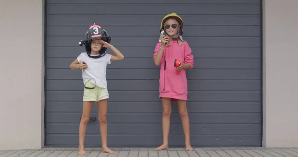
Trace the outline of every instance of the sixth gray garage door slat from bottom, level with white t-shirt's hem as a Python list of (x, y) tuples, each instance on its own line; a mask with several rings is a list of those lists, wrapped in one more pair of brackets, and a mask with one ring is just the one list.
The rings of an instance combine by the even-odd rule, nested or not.
[[(107, 80), (109, 91), (154, 91), (158, 80)], [(260, 91), (259, 80), (188, 80), (188, 91)], [(82, 80), (47, 80), (47, 91), (78, 91)]]

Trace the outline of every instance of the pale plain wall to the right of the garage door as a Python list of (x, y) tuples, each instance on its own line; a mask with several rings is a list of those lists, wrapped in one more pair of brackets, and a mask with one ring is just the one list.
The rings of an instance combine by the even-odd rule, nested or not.
[(298, 147), (298, 0), (264, 0), (265, 147)]

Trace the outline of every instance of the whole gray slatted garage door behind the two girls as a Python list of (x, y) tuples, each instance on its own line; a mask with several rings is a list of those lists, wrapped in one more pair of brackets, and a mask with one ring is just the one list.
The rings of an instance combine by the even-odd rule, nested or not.
[[(191, 143), (197, 147), (261, 145), (260, 0), (46, 0), (46, 145), (76, 146), (82, 110), (80, 70), (70, 63), (87, 27), (101, 24), (125, 59), (108, 66), (108, 144), (162, 143), (159, 69), (152, 55), (162, 17), (177, 12), (195, 56), (189, 79)], [(109, 51), (109, 53), (112, 53)], [(97, 107), (85, 144), (100, 142)], [(93, 118), (96, 120), (93, 121)], [(176, 104), (169, 144), (183, 146)]]

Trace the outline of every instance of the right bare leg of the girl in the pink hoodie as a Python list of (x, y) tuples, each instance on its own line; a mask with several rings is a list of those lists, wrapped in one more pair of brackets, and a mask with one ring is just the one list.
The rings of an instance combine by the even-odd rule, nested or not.
[(189, 117), (186, 107), (186, 101), (178, 100), (178, 110), (182, 121), (184, 136), (185, 136), (185, 147), (186, 151), (193, 151), (190, 144), (190, 127), (189, 127)]

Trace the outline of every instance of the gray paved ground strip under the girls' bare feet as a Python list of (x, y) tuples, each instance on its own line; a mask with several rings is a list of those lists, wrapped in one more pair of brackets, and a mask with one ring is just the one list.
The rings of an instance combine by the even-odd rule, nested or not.
[(43, 148), (37, 150), (5, 150), (0, 157), (298, 157), (298, 148), (112, 148), (115, 154), (102, 153), (100, 148), (86, 148), (78, 155), (76, 148)]

